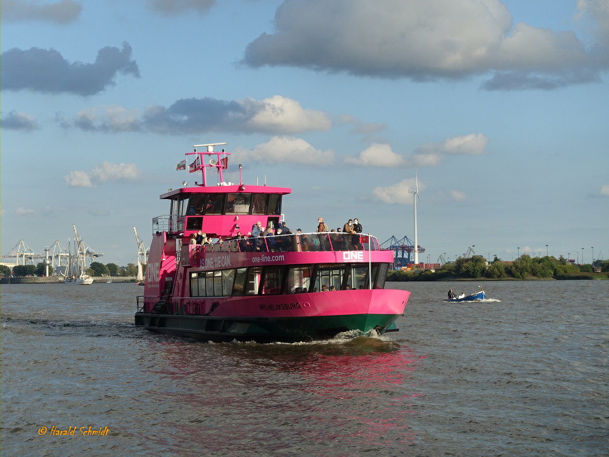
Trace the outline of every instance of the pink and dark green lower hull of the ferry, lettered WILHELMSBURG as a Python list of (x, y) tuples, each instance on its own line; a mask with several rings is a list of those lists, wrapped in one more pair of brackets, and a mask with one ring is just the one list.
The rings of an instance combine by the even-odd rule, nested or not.
[[(282, 310), (281, 306), (267, 302), (256, 306), (257, 315), (244, 316), (231, 312), (236, 308), (235, 303), (225, 302), (233, 305), (231, 309), (223, 313), (212, 312), (211, 315), (139, 312), (135, 314), (135, 324), (158, 333), (216, 342), (312, 341), (333, 338), (348, 331), (357, 331), (357, 335), (369, 331), (382, 334), (397, 330), (393, 323), (402, 315), (409, 292), (379, 289), (316, 292), (290, 297), (292, 302), (296, 297), (303, 306)], [(250, 300), (242, 300), (242, 311)], [(340, 302), (343, 306), (337, 306)], [(217, 310), (221, 308), (222, 305)]]

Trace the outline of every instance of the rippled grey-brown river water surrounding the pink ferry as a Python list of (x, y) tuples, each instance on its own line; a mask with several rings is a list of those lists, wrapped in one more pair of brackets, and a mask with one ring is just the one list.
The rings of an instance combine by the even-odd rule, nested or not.
[(136, 328), (133, 284), (2, 285), (2, 454), (607, 455), (609, 282), (443, 301), (476, 286), (388, 283), (399, 332), (263, 345)]

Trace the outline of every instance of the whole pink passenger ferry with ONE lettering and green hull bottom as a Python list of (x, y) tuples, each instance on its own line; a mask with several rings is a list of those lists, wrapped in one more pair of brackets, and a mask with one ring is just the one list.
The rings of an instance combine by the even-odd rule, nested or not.
[[(169, 200), (169, 215), (152, 219), (135, 324), (217, 342), (397, 331), (410, 292), (384, 289), (393, 251), (371, 235), (277, 234), (282, 199), (292, 190), (244, 184), (241, 165), (239, 184), (225, 183), (230, 153), (214, 151), (223, 144), (195, 145), (186, 153), (194, 158), (189, 171), (201, 171), (203, 181), (160, 196)], [(209, 170), (217, 172), (213, 183)], [(258, 221), (272, 228), (269, 235), (247, 237)], [(215, 242), (190, 244), (199, 231)]]

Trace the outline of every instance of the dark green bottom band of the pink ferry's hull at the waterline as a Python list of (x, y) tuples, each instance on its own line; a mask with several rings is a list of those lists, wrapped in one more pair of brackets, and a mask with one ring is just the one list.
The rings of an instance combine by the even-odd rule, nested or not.
[(370, 331), (379, 335), (397, 331), (393, 322), (401, 314), (347, 314), (315, 317), (211, 317), (136, 313), (135, 325), (150, 331), (203, 341), (299, 342), (354, 336)]

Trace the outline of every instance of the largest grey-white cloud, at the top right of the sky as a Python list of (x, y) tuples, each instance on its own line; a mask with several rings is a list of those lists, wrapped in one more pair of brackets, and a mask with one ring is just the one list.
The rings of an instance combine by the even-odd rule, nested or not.
[[(275, 30), (247, 46), (244, 62), (415, 81), (498, 72), (483, 88), (555, 88), (597, 80), (599, 63), (609, 64), (597, 57), (609, 37), (607, 1), (579, 0), (579, 7), (599, 24), (590, 49), (571, 31), (513, 26), (499, 0), (286, 0)], [(532, 82), (533, 74), (547, 83)]]

